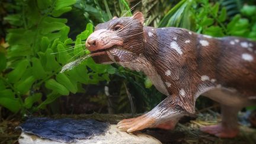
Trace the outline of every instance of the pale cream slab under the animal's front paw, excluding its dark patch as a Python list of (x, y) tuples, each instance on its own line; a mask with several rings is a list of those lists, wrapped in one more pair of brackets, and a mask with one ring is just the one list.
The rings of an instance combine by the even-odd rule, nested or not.
[[(20, 144), (27, 144), (27, 143), (42, 143), (42, 144), (60, 144), (63, 142), (56, 142), (49, 139), (42, 139), (36, 135), (30, 135), (27, 133), (22, 132), (20, 138), (18, 139)], [(120, 131), (117, 129), (116, 124), (111, 124), (107, 132), (104, 135), (92, 136), (89, 139), (79, 139), (76, 142), (72, 143), (161, 143), (155, 137), (150, 135), (146, 135), (140, 132), (136, 133), (127, 133)]]

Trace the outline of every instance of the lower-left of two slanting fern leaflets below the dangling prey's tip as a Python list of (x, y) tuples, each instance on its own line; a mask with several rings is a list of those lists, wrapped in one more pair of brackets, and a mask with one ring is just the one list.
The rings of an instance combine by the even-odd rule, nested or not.
[(52, 89), (61, 95), (69, 95), (68, 89), (66, 89), (62, 84), (59, 84), (59, 82), (56, 82), (55, 79), (49, 79), (46, 81), (45, 86), (46, 88)]

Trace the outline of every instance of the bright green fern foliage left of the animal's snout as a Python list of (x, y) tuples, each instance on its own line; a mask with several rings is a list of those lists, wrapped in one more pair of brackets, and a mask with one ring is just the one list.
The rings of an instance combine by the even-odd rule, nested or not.
[(18, 12), (5, 17), (13, 28), (8, 30), (8, 49), (1, 49), (0, 53), (0, 105), (14, 113), (19, 110), (24, 113), (26, 109), (35, 111), (61, 95), (84, 91), (82, 84), (110, 81), (108, 75), (115, 69), (95, 64), (92, 59), (71, 71), (59, 73), (63, 65), (88, 53), (82, 41), (93, 31), (93, 25), (87, 24), (76, 40), (68, 38), (67, 20), (59, 17), (71, 11), (75, 2), (15, 1), (14, 9)]

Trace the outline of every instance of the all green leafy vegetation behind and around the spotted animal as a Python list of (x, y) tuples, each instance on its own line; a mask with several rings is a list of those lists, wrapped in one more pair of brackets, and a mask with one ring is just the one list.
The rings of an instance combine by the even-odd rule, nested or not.
[[(1, 1), (2, 114), (60, 113), (65, 105), (60, 98), (72, 97), (87, 97), (89, 103), (100, 105), (95, 110), (104, 113), (143, 113), (155, 107), (165, 96), (143, 73), (96, 64), (92, 59), (59, 73), (63, 65), (89, 53), (85, 40), (95, 25), (113, 16), (132, 15), (129, 9), (134, 5), (132, 12), (142, 11), (145, 25), (256, 40), (254, 1)], [(198, 101), (200, 108), (207, 103)]]

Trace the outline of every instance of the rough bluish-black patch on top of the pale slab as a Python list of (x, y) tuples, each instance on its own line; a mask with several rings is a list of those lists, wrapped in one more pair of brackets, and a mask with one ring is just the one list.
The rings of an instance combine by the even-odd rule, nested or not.
[(76, 142), (92, 136), (104, 135), (109, 124), (97, 120), (50, 119), (47, 117), (31, 118), (17, 128), (25, 133), (57, 142)]

